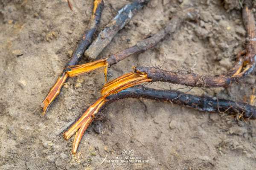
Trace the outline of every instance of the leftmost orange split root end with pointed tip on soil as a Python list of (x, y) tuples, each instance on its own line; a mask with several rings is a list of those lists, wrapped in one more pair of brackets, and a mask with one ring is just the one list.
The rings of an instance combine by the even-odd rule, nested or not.
[(49, 91), (47, 96), (45, 97), (44, 101), (42, 102), (43, 115), (46, 113), (46, 111), (49, 108), (49, 105), (52, 103), (52, 101), (60, 93), (61, 87), (62, 87), (62, 85), (64, 85), (64, 82), (66, 81), (67, 77), (68, 77), (67, 73), (64, 73), (63, 75), (61, 75), (61, 77), (58, 78), (55, 85), (53, 85), (53, 87), (51, 88), (51, 90)]

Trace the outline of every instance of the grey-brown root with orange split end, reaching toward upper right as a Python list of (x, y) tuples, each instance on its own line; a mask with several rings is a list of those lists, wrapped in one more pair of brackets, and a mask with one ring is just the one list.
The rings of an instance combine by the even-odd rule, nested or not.
[(120, 51), (116, 54), (112, 54), (110, 57), (105, 59), (100, 59), (95, 62), (89, 62), (82, 65), (70, 66), (67, 68), (67, 74), (69, 77), (78, 76), (89, 71), (93, 71), (101, 67), (111, 67), (111, 65), (116, 64), (117, 62), (131, 56), (132, 54), (141, 53), (148, 50), (149, 48), (157, 45), (158, 42), (163, 40), (167, 34), (173, 34), (184, 20), (197, 20), (198, 12), (194, 8), (187, 8), (186, 10), (178, 12), (171, 20), (166, 23), (165, 28), (162, 28), (156, 34), (153, 34), (151, 37), (148, 37), (140, 42), (137, 42), (136, 45), (127, 48), (123, 51)]

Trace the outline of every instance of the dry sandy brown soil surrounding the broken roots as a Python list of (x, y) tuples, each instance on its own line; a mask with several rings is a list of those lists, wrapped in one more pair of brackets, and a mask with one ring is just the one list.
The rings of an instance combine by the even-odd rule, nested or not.
[[(61, 132), (100, 96), (103, 73), (68, 80), (46, 116), (35, 109), (61, 73), (90, 20), (93, 0), (0, 0), (0, 170), (255, 170), (256, 121), (238, 122), (148, 99), (114, 102), (89, 127), (78, 153)], [(105, 0), (99, 30), (131, 0)], [(189, 0), (151, 0), (100, 54), (135, 45), (164, 26)], [(155, 48), (110, 68), (110, 79), (132, 65), (163, 65), (198, 74), (220, 74), (244, 48), (246, 32), (237, 0), (195, 0), (197, 22), (185, 23)], [(97, 33), (99, 33), (99, 30)], [(82, 59), (80, 63), (86, 62)], [(230, 88), (194, 88), (191, 94), (243, 101), (255, 73)], [(183, 86), (154, 83), (154, 88)], [(188, 88), (181, 91), (188, 91)], [(134, 150), (149, 163), (107, 160)]]

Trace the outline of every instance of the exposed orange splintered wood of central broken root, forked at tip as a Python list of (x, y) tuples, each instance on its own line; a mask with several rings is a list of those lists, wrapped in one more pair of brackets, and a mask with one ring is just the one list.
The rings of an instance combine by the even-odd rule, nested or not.
[(143, 82), (151, 82), (151, 81), (152, 80), (148, 79), (147, 74), (145, 73), (131, 72), (105, 84), (104, 87), (102, 88), (102, 97), (100, 97), (93, 105), (91, 105), (87, 109), (87, 111), (85, 111), (84, 114), (79, 118), (79, 120), (76, 123), (74, 123), (70, 127), (70, 129), (63, 134), (65, 139), (69, 139), (78, 130), (78, 133), (76, 133), (76, 137), (73, 142), (72, 153), (73, 154), (76, 153), (76, 150), (79, 146), (79, 143), (81, 141), (81, 138), (85, 130), (93, 121), (93, 118), (95, 117), (96, 113), (99, 112), (99, 109), (105, 104), (105, 102), (108, 101), (106, 97), (110, 96), (111, 94), (116, 94), (119, 91), (132, 87), (134, 85), (138, 85)]

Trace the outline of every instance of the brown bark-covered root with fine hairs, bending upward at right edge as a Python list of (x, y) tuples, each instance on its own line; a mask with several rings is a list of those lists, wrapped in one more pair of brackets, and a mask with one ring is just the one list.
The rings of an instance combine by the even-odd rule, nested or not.
[[(241, 57), (238, 55), (236, 65), (227, 74), (216, 76), (202, 76), (193, 73), (180, 73), (166, 71), (160, 68), (143, 67), (135, 68), (135, 71), (145, 72), (153, 82), (170, 82), (174, 84), (187, 85), (192, 87), (226, 87), (231, 82), (250, 74), (256, 66), (256, 26), (253, 12), (248, 6), (243, 8), (243, 22), (248, 34), (246, 54)], [(239, 71), (241, 69), (241, 71)]]

